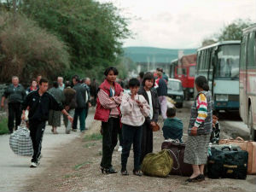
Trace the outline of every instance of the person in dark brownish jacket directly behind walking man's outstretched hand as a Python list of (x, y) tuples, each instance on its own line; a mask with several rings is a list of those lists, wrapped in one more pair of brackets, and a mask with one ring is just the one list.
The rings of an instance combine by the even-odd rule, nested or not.
[[(71, 88), (71, 83), (66, 82), (66, 88), (64, 89), (64, 96), (65, 101), (63, 102), (64, 108), (67, 110), (67, 112), (73, 117), (74, 116), (74, 110), (77, 107), (77, 101), (76, 101), (76, 90)], [(70, 121), (68, 121), (67, 117), (64, 115), (64, 124), (66, 126), (66, 133), (69, 134), (71, 130), (72, 124)]]

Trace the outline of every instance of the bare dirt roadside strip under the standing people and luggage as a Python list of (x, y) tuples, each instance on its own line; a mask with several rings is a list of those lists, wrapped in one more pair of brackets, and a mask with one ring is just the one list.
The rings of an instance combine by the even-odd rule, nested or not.
[[(188, 127), (189, 107), (178, 109), (177, 116), (183, 119), (184, 128)], [(208, 179), (202, 183), (186, 185), (186, 177), (168, 176), (137, 177), (133, 176), (133, 153), (131, 150), (127, 170), (130, 175), (120, 173), (104, 175), (100, 172), (102, 140), (99, 137), (100, 122), (93, 122), (90, 131), (84, 138), (76, 138), (60, 148), (51, 166), (37, 177), (28, 180), (26, 191), (253, 191), (256, 177), (248, 176), (247, 180)], [(186, 141), (186, 129), (184, 129)], [(91, 136), (93, 134), (93, 136)], [(154, 133), (154, 152), (160, 151), (163, 142), (162, 132)], [(113, 166), (120, 170), (120, 153), (114, 151)]]

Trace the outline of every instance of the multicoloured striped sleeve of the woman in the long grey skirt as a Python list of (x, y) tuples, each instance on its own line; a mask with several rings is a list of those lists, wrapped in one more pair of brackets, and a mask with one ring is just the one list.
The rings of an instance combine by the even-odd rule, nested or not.
[(194, 126), (199, 127), (207, 119), (207, 97), (202, 93), (197, 97), (196, 108), (198, 115)]

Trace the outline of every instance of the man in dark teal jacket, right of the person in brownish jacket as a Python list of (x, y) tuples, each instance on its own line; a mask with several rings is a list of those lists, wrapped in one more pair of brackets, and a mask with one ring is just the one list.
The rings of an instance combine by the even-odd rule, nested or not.
[(78, 118), (80, 121), (80, 131), (85, 130), (85, 116), (86, 116), (86, 88), (80, 84), (79, 76), (75, 75), (72, 78), (73, 89), (76, 90), (77, 108), (75, 108), (75, 114), (73, 117), (73, 131), (77, 131)]

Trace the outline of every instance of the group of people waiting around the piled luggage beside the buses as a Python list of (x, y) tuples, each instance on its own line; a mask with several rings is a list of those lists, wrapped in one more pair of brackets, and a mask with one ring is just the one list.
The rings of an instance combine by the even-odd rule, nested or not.
[[(165, 84), (160, 71), (145, 73), (140, 79), (130, 79), (130, 91), (123, 91), (116, 82), (118, 70), (106, 69), (106, 79), (99, 86), (96, 113), (94, 119), (102, 121), (102, 173), (116, 173), (112, 165), (113, 149), (118, 142), (118, 133), (122, 133), (121, 175), (129, 175), (126, 169), (131, 144), (134, 152), (133, 174), (142, 176), (140, 167), (146, 154), (153, 151), (153, 128), (157, 125), (159, 112), (164, 119), (163, 134), (166, 139), (177, 139), (183, 143), (183, 122), (176, 118), (176, 109), (167, 108)], [(191, 108), (189, 120), (189, 138), (184, 154), (184, 162), (191, 164), (193, 174), (187, 182), (204, 180), (204, 165), (207, 163), (207, 148), (211, 142), (218, 142), (218, 115), (212, 121), (212, 96), (207, 79), (203, 76), (195, 79), (198, 95)], [(161, 88), (161, 90), (160, 90)], [(162, 93), (162, 97), (158, 93)], [(164, 102), (165, 103), (165, 102)], [(212, 126), (214, 131), (212, 131)]]

